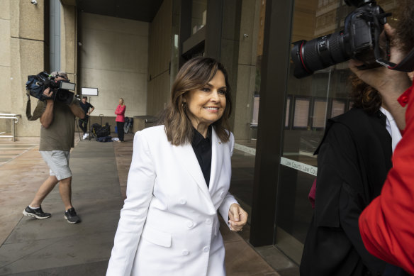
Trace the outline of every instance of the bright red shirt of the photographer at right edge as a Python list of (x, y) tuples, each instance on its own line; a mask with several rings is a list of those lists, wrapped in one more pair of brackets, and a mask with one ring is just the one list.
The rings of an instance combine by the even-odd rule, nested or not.
[[(405, 111), (403, 138), (393, 153), (381, 195), (359, 216), (362, 241), (372, 255), (414, 275), (414, 84), (399, 98)], [(413, 95), (411, 95), (413, 94)]]

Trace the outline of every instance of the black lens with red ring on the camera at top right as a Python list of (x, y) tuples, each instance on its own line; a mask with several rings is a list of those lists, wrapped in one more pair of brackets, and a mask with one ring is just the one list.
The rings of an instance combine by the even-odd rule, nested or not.
[(296, 41), (293, 43), (291, 56), (295, 65), (293, 74), (298, 79), (350, 58), (346, 51), (345, 35), (342, 32), (309, 41)]

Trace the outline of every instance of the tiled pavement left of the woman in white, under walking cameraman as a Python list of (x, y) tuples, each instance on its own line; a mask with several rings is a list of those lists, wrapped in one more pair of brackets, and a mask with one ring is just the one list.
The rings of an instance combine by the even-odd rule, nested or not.
[(72, 202), (83, 220), (75, 225), (63, 219), (57, 187), (42, 205), (50, 219), (21, 214), (48, 173), (37, 147), (0, 166), (0, 209), (9, 214), (0, 218), (0, 275), (105, 274), (122, 206), (113, 146), (85, 141), (70, 162)]

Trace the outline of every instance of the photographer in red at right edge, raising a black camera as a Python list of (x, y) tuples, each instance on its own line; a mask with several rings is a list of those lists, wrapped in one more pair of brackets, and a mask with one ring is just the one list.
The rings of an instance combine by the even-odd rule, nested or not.
[[(386, 26), (393, 46), (391, 62), (395, 63), (414, 47), (414, 5), (409, 0), (402, 0), (399, 5), (396, 31)], [(414, 84), (405, 72), (386, 67), (358, 70), (358, 65), (360, 62), (352, 60), (351, 70), (379, 91), (403, 130), (403, 138), (393, 153), (393, 168), (388, 172), (381, 195), (359, 216), (359, 231), (371, 254), (414, 275)]]

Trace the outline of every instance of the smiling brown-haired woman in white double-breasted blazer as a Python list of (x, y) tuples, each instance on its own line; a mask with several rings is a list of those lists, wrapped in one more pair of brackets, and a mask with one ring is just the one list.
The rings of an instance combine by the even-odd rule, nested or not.
[(106, 275), (225, 275), (217, 211), (233, 231), (247, 213), (228, 192), (234, 137), (223, 65), (181, 67), (164, 125), (135, 134), (127, 199)]

